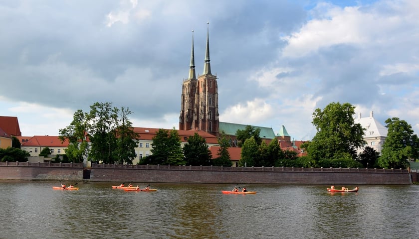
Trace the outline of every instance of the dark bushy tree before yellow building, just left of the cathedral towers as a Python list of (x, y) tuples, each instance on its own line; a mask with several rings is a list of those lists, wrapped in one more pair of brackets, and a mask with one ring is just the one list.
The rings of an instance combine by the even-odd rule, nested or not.
[(185, 164), (182, 153), (181, 140), (178, 131), (172, 129), (169, 133), (166, 129), (159, 129), (153, 137), (152, 155), (144, 157), (141, 164), (152, 165), (183, 165)]

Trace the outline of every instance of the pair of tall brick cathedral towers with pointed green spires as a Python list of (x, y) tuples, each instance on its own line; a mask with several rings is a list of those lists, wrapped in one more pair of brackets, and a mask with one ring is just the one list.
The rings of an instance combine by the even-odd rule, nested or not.
[(191, 64), (189, 77), (182, 84), (179, 129), (203, 130), (218, 135), (218, 117), (217, 77), (211, 74), (209, 25), (207, 25), (204, 73), (199, 75), (198, 79), (195, 74), (194, 32), (192, 32)]

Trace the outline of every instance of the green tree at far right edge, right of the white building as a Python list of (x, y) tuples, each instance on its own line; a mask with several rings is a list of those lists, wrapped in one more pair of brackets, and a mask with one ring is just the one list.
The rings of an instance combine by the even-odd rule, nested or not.
[(378, 165), (383, 168), (406, 168), (408, 159), (418, 158), (419, 139), (412, 126), (399, 118), (387, 119), (387, 138)]

